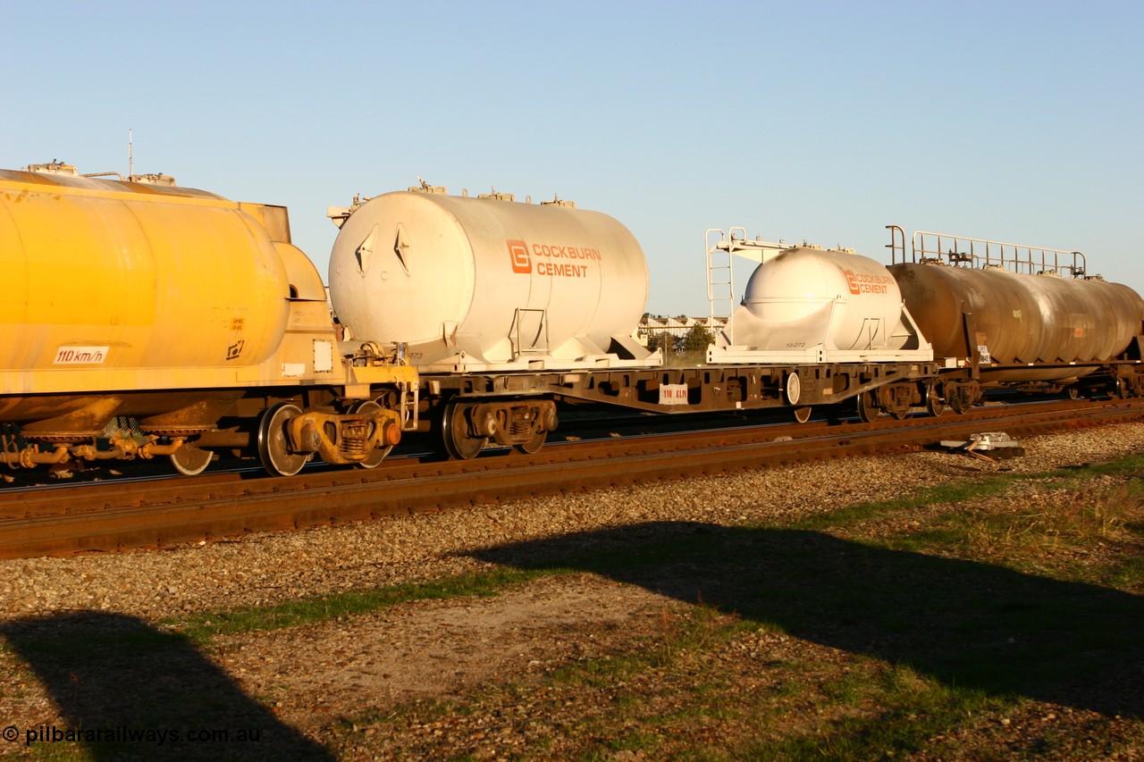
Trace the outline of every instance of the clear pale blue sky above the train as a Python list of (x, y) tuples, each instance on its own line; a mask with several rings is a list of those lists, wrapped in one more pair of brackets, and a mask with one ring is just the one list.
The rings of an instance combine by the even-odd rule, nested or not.
[[(1144, 291), (1144, 2), (0, 0), (0, 167), (61, 159), (289, 207), (415, 184), (623, 222), (649, 309), (704, 230), (885, 261), (883, 225), (1083, 251)], [(742, 281), (740, 281), (741, 291)]]

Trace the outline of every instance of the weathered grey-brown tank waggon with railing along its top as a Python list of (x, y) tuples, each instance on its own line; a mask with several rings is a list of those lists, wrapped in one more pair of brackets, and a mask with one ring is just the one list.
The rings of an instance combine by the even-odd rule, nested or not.
[(1088, 272), (1080, 252), (890, 228), (889, 268), (940, 364), (937, 396), (961, 411), (985, 389), (1110, 387), (1144, 395), (1144, 301)]

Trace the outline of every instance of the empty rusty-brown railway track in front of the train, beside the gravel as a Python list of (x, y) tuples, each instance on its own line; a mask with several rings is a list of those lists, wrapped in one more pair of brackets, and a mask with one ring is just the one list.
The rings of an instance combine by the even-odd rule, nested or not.
[(855, 454), (916, 451), (942, 439), (1014, 436), (1144, 418), (1144, 400), (986, 406), (967, 415), (812, 422), (604, 438), (535, 455), (386, 462), (285, 478), (220, 473), (0, 492), (0, 558), (209, 541), (434, 511), (558, 492)]

